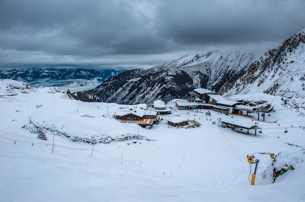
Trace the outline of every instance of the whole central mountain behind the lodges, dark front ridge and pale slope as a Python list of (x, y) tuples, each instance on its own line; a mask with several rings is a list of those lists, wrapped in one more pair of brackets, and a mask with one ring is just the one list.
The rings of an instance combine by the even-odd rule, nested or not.
[(85, 94), (95, 95), (105, 102), (126, 104), (149, 104), (156, 99), (191, 100), (193, 89), (218, 91), (226, 81), (241, 69), (247, 68), (254, 60), (254, 55), (241, 52), (209, 52), (184, 56), (149, 69), (125, 71)]

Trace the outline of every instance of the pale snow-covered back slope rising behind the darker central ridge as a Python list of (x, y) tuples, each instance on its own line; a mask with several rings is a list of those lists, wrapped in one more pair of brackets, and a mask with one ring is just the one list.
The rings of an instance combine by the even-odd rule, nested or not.
[(202, 87), (218, 91), (224, 81), (248, 67), (255, 59), (253, 54), (214, 51), (196, 56), (185, 56), (160, 67), (184, 70), (191, 76), (195, 88)]

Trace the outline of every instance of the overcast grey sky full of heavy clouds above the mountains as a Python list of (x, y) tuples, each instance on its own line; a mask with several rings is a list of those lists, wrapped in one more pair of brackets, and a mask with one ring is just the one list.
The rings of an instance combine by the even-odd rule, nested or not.
[(209, 50), (263, 55), (305, 0), (0, 0), (0, 67), (152, 67)]

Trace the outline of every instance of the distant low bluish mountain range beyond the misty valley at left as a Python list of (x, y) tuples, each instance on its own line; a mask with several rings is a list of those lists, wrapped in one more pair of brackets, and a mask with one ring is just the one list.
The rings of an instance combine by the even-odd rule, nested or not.
[(92, 89), (126, 69), (26, 68), (0, 72), (0, 79), (13, 79), (34, 87), (57, 86), (72, 92)]

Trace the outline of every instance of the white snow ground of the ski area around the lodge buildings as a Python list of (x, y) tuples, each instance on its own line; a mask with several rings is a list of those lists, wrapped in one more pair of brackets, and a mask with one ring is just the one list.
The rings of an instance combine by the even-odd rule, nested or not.
[[(266, 121), (277, 122), (257, 121), (262, 130), (257, 135), (234, 132), (218, 123), (231, 116), (210, 111), (207, 119), (207, 110), (178, 110), (170, 101), (172, 114), (147, 130), (114, 119), (120, 107), (135, 105), (75, 101), (56, 87), (0, 80), (0, 201), (305, 201), (305, 118), (286, 109), (279, 97), (256, 93), (231, 100), (237, 98), (267, 101), (276, 111), (266, 114)], [(169, 127), (166, 119), (178, 115), (202, 125)], [(47, 141), (32, 133), (37, 126), (49, 129)], [(93, 146), (58, 132), (89, 139), (143, 138)], [(275, 166), (294, 168), (274, 183), (269, 152), (276, 155)], [(254, 186), (247, 154), (260, 159)]]

